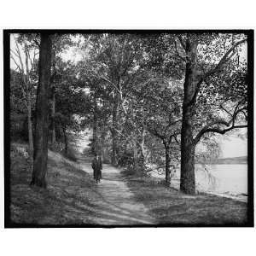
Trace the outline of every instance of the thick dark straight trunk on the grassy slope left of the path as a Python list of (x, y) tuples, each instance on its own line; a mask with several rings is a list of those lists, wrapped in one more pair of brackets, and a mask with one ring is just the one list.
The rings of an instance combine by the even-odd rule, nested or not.
[(49, 79), (51, 39), (49, 34), (41, 34), (38, 67), (38, 94), (36, 103), (36, 130), (34, 140), (34, 161), (31, 184), (46, 188), (48, 158), (48, 123), (49, 123)]

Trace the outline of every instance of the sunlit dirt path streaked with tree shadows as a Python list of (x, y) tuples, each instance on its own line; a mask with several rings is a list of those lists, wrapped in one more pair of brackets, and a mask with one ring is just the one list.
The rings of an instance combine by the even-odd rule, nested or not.
[[(90, 162), (80, 161), (80, 168), (92, 175)], [(131, 225), (154, 224), (154, 218), (148, 215), (148, 209), (134, 200), (134, 195), (121, 176), (120, 170), (103, 165), (101, 183), (96, 183), (99, 199), (94, 201), (96, 224)]]

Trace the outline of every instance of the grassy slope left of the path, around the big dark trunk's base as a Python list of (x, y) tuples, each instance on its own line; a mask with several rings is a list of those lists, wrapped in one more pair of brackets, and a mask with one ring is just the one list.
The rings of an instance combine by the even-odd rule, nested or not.
[(11, 220), (15, 224), (91, 224), (94, 181), (61, 154), (49, 151), (48, 188), (29, 186), (31, 171), (22, 154), (11, 151)]

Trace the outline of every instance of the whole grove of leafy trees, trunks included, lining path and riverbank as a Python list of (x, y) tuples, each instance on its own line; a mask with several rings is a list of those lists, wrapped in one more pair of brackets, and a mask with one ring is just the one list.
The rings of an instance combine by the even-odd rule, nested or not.
[(10, 37), (11, 135), (28, 141), (34, 185), (47, 185), (47, 148), (68, 154), (68, 133), (89, 128), (105, 162), (163, 169), (166, 185), (180, 168), (180, 189), (193, 195), (196, 146), (247, 127), (244, 33)]

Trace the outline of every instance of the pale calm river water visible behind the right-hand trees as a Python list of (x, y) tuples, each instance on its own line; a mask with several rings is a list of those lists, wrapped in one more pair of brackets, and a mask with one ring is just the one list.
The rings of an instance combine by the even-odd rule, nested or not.
[[(154, 177), (164, 174), (152, 172)], [(180, 172), (173, 173), (171, 186), (179, 188)], [(195, 165), (196, 190), (247, 201), (247, 165)]]

